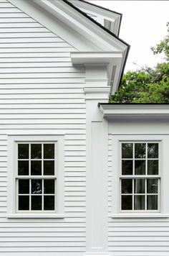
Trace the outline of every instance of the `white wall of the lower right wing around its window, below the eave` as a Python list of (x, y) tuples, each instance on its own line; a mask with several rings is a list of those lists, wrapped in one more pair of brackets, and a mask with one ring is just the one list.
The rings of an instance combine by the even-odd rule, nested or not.
[[(114, 137), (120, 139), (122, 134), (143, 135), (144, 137), (163, 137), (162, 152), (162, 188), (161, 210), (168, 214), (168, 150), (169, 150), (169, 122), (168, 119), (136, 119), (119, 121), (116, 119), (109, 122), (108, 155), (109, 155), (109, 186), (108, 186), (108, 245), (110, 255), (137, 255), (137, 256), (164, 256), (169, 254), (169, 221), (168, 218), (112, 218), (115, 196), (112, 180), (115, 178), (115, 159), (112, 156)], [(115, 149), (117, 150), (117, 148)], [(119, 193), (117, 191), (117, 193)], [(130, 214), (131, 215), (131, 214)]]

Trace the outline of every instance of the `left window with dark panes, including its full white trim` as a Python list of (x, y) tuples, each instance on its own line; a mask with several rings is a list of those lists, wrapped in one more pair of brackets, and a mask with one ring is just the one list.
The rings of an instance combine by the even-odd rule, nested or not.
[(64, 217), (64, 135), (8, 135), (9, 218)]

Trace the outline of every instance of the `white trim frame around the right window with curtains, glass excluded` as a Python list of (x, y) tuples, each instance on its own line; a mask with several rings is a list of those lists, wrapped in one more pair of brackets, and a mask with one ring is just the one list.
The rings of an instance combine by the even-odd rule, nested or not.
[[(122, 212), (120, 211), (120, 155), (121, 142), (159, 142), (159, 169), (160, 173), (160, 212)], [(164, 161), (168, 160), (166, 147), (169, 148), (169, 137), (163, 135), (146, 135), (146, 134), (112, 134), (112, 217), (113, 218), (168, 218), (169, 206), (167, 204), (168, 197), (166, 191), (169, 188), (164, 187), (165, 179), (169, 179), (168, 165), (164, 165)], [(165, 148), (165, 150), (164, 150)]]

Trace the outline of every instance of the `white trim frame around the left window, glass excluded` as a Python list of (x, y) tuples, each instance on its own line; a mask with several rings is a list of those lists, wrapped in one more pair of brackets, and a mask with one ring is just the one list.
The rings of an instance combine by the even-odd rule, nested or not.
[[(54, 142), (57, 153), (56, 212), (45, 211), (19, 212), (16, 207), (16, 145), (21, 142)], [(63, 135), (8, 135), (8, 181), (7, 181), (8, 218), (64, 218), (64, 136)]]

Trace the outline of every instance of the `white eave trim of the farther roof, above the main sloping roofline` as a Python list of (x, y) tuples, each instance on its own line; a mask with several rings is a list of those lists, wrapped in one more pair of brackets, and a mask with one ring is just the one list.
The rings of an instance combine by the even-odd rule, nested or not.
[[(119, 34), (120, 20), (121, 20), (122, 14), (109, 11), (108, 9), (107, 10), (102, 9), (102, 6), (94, 6), (92, 4), (88, 4), (87, 2), (82, 2), (77, 0), (69, 0), (69, 2), (74, 4), (74, 6), (77, 6), (79, 9), (81, 9), (85, 13), (89, 12), (90, 14), (97, 15), (97, 18), (102, 19), (102, 25), (104, 25), (104, 27), (106, 27), (107, 29), (110, 29), (110, 31), (113, 32), (115, 35)], [(97, 19), (97, 22), (100, 22), (100, 20)], [(108, 22), (110, 22), (110, 24), (107, 27)]]

